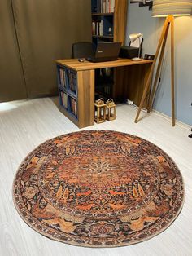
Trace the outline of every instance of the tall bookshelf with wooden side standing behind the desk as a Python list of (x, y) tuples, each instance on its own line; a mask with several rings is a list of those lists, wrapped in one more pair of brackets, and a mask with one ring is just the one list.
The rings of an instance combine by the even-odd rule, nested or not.
[[(122, 42), (127, 24), (127, 0), (91, 0), (92, 41)], [(95, 99), (118, 99), (114, 85), (118, 83), (118, 69), (97, 70), (95, 73)]]

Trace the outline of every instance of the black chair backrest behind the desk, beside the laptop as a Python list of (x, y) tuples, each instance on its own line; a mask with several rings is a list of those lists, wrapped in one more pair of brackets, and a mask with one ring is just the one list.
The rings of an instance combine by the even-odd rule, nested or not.
[(74, 42), (72, 44), (72, 58), (88, 58), (94, 56), (92, 42)]

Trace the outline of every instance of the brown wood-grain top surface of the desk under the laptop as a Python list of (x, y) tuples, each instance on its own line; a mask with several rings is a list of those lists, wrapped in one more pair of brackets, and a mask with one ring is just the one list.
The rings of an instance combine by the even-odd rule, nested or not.
[(97, 68), (115, 68), (115, 67), (137, 65), (137, 64), (150, 64), (152, 62), (153, 62), (152, 60), (133, 61), (130, 59), (118, 59), (118, 60), (97, 62), (97, 63), (89, 62), (88, 60), (85, 60), (84, 62), (79, 62), (78, 59), (56, 60), (57, 64), (61, 64), (66, 68), (71, 68), (76, 71), (90, 70), (90, 69), (97, 69)]

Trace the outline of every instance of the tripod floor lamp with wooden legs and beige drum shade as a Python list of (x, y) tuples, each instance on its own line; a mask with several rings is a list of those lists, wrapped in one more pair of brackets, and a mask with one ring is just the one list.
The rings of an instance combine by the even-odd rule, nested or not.
[[(149, 99), (149, 104), (147, 107), (147, 112), (151, 112), (153, 101), (155, 98), (155, 91), (158, 86), (159, 73), (161, 69), (162, 62), (164, 60), (164, 48), (168, 38), (168, 30), (171, 27), (171, 88), (172, 88), (172, 126), (175, 126), (175, 76), (174, 76), (174, 16), (191, 15), (192, 0), (154, 0), (152, 16), (153, 17), (167, 17), (164, 22), (164, 28), (159, 39), (159, 44), (155, 53), (155, 59), (151, 66), (151, 72), (147, 79), (146, 85), (143, 90), (142, 100), (140, 102), (139, 108), (137, 110), (137, 115), (135, 122), (137, 123), (138, 117), (142, 110), (142, 105), (146, 99), (146, 95), (149, 93), (152, 75), (155, 69), (155, 64), (158, 61), (154, 84), (152, 86), (151, 95)], [(159, 57), (159, 59), (158, 59)]]

